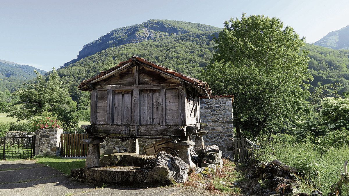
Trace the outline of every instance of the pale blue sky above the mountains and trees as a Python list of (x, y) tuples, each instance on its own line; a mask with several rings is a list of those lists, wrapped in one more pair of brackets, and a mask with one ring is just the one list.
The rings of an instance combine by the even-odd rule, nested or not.
[(149, 19), (222, 28), (242, 13), (279, 17), (313, 43), (349, 25), (348, 7), (348, 0), (0, 0), (0, 59), (51, 70), (116, 28)]

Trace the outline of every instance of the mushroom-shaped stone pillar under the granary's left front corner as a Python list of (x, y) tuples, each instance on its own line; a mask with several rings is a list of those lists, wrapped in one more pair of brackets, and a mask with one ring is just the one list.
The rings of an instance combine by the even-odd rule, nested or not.
[(104, 140), (101, 138), (80, 140), (81, 144), (88, 144), (85, 167), (97, 167), (101, 165), (99, 162), (99, 158), (101, 158), (99, 145), (103, 142)]

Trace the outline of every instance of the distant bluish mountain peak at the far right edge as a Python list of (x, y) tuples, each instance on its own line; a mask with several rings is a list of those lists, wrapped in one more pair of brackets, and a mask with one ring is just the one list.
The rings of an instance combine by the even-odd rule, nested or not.
[(314, 45), (332, 49), (349, 49), (349, 25), (337, 31), (329, 32)]

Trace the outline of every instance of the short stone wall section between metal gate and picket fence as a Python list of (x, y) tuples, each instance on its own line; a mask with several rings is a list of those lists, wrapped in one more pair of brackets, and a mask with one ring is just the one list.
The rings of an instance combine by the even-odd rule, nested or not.
[(35, 155), (60, 156), (59, 144), (62, 133), (63, 129), (61, 128), (36, 130)]

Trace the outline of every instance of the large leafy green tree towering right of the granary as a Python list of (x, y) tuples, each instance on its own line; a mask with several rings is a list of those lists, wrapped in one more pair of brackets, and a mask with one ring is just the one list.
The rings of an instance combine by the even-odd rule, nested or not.
[(306, 115), (304, 38), (279, 18), (252, 15), (226, 21), (212, 63), (203, 74), (216, 95), (234, 95), (238, 136), (289, 129)]

